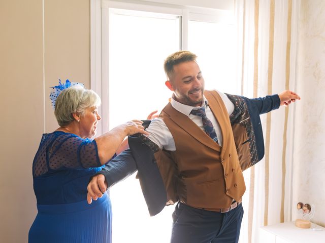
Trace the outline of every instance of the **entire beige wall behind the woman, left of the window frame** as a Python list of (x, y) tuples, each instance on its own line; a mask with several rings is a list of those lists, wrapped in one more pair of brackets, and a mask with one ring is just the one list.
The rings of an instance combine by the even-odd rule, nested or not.
[(89, 2), (44, 0), (44, 60), (43, 1), (0, 2), (0, 242), (27, 242), (37, 212), (32, 159), (57, 127), (49, 87), (69, 78), (89, 88)]

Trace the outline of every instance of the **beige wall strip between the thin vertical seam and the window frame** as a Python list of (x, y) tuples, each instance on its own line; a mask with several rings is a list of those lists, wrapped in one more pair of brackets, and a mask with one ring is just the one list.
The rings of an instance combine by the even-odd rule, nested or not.
[(69, 79), (90, 88), (90, 1), (45, 0), (45, 131), (57, 128), (50, 89)]

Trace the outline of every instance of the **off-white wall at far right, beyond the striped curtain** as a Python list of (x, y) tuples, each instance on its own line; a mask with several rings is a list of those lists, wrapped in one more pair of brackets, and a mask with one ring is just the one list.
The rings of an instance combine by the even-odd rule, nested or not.
[[(294, 153), (294, 212), (313, 204), (314, 223), (325, 226), (325, 1), (302, 0), (298, 39)], [(293, 214), (295, 215), (295, 214)]]

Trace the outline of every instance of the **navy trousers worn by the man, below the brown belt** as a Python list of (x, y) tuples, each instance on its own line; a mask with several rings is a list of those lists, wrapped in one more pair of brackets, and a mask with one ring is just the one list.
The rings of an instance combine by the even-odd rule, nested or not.
[(178, 203), (173, 213), (171, 243), (237, 243), (244, 210), (201, 210)]

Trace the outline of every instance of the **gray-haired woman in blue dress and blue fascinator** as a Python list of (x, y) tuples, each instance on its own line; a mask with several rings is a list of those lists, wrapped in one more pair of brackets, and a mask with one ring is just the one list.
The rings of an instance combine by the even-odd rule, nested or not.
[[(61, 86), (60, 91), (66, 88)], [(90, 140), (101, 119), (100, 103), (95, 92), (80, 85), (57, 96), (54, 113), (60, 127), (43, 134), (32, 166), (38, 214), (29, 230), (30, 243), (111, 242), (110, 199), (104, 193), (88, 205), (87, 184), (126, 136), (147, 132), (141, 120), (133, 120)]]

